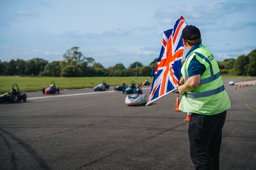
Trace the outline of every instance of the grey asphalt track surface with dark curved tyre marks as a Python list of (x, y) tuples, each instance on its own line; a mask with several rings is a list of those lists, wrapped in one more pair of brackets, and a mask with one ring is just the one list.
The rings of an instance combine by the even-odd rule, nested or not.
[[(256, 85), (234, 90), (229, 80), (223, 79), (231, 109), (220, 169), (255, 170)], [(147, 107), (127, 106), (126, 95), (111, 89), (61, 90), (63, 96), (49, 98), (40, 97), (57, 95), (29, 92), (25, 103), (1, 104), (0, 170), (194, 169), (187, 113), (174, 111), (178, 94)], [(150, 89), (143, 91), (149, 97)]]

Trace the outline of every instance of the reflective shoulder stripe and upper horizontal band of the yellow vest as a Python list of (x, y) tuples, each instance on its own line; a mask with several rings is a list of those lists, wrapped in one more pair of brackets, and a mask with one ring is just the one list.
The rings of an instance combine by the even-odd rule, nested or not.
[[(220, 76), (220, 71), (218, 73), (216, 73), (215, 75), (213, 75), (213, 66), (212, 66), (212, 63), (208, 60), (207, 57), (203, 56), (202, 54), (198, 53), (198, 52), (192, 52), (190, 55), (187, 56), (187, 60), (189, 59), (189, 57), (195, 53), (196, 55), (198, 55), (200, 58), (202, 58), (203, 60), (205, 60), (209, 65), (210, 65), (210, 73), (211, 73), (211, 76), (208, 77), (208, 78), (205, 78), (205, 79), (202, 79), (200, 80), (200, 83), (199, 85), (204, 85), (206, 83), (209, 83), (213, 80), (216, 80), (219, 78)], [(186, 70), (186, 67), (187, 66), (187, 62), (186, 62), (186, 65), (185, 65), (185, 81), (187, 81), (188, 79), (188, 75), (187, 75), (187, 70)]]

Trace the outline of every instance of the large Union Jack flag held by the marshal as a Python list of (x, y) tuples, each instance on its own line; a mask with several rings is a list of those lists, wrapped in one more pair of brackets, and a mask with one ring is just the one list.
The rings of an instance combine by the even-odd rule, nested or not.
[(181, 78), (181, 58), (184, 50), (181, 33), (185, 27), (187, 27), (187, 23), (181, 16), (175, 22), (173, 29), (164, 31), (149, 101), (175, 89)]

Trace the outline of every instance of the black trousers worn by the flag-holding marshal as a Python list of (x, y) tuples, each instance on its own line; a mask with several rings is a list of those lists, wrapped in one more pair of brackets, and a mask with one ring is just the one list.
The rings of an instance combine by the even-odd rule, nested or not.
[(196, 170), (219, 170), (219, 151), (226, 113), (191, 114), (188, 138), (190, 156)]

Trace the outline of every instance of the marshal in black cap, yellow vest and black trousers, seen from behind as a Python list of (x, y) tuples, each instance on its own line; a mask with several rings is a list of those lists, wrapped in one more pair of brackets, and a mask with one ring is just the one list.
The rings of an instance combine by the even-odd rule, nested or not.
[(219, 170), (222, 128), (231, 107), (229, 96), (217, 61), (201, 44), (198, 28), (187, 26), (181, 37), (188, 53), (176, 88), (183, 95), (179, 110), (192, 112), (188, 126), (191, 160), (196, 170)]

